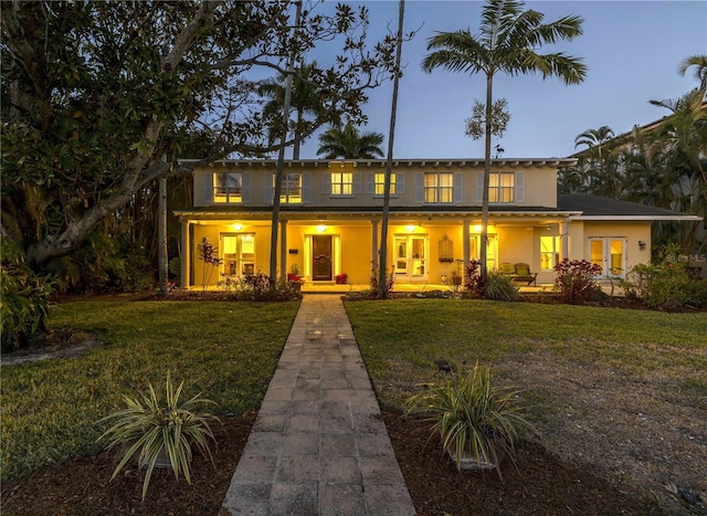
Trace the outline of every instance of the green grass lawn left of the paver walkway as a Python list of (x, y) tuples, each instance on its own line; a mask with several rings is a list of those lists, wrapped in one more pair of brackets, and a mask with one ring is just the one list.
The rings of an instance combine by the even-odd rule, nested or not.
[[(73, 359), (2, 367), (2, 478), (97, 452), (95, 421), (120, 396), (163, 389), (167, 370), (186, 396), (203, 392), (218, 414), (257, 409), (298, 303), (82, 301), (56, 305), (50, 326), (95, 335)], [(105, 425), (104, 425), (105, 427)]]

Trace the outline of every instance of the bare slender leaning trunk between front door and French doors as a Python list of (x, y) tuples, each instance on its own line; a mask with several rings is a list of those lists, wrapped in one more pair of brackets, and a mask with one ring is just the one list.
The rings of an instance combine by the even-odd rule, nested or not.
[(405, 0), (400, 0), (398, 11), (398, 41), (395, 49), (395, 76), (393, 78), (393, 98), (390, 108), (390, 130), (388, 133), (388, 160), (386, 162), (386, 181), (383, 188), (383, 217), (381, 223), (378, 297), (384, 299), (387, 292), (388, 270), (388, 219), (390, 211), (390, 175), (393, 168), (393, 144), (395, 138), (395, 115), (398, 112), (398, 84), (400, 83), (400, 59), (402, 55), (402, 24), (405, 14)]

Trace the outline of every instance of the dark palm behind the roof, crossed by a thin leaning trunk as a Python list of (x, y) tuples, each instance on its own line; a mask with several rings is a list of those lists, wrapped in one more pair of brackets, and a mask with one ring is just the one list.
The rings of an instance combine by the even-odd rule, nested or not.
[[(299, 146), (303, 141), (302, 133), (305, 128), (305, 117), (312, 115), (317, 118), (324, 115), (324, 106), (317, 88), (309, 81), (316, 70), (316, 61), (310, 64), (303, 63), (295, 69), (295, 75), (293, 76), (289, 99), (291, 109), (295, 112), (293, 159), (299, 159)], [(270, 98), (263, 107), (263, 116), (272, 122), (268, 135), (271, 143), (277, 140), (281, 135), (286, 83), (287, 75), (281, 74), (257, 85), (257, 94)]]

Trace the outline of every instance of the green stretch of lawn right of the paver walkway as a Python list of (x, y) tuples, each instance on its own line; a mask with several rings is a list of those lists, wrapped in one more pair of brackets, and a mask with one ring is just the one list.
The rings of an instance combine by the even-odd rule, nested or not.
[[(707, 397), (704, 313), (468, 299), (351, 302), (346, 309), (383, 406), (400, 408), (415, 385), (439, 379), (437, 360), (493, 369), (518, 356), (632, 377), (659, 372), (676, 389)], [(514, 380), (513, 371), (504, 375)]]

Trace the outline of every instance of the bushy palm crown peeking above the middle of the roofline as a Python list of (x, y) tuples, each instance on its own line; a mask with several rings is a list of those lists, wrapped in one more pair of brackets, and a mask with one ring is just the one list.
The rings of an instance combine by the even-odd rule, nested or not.
[(319, 135), (321, 146), (317, 156), (326, 159), (373, 159), (384, 156), (380, 146), (383, 143), (381, 133), (359, 133), (354, 124), (348, 122), (346, 126), (333, 125), (328, 130)]

